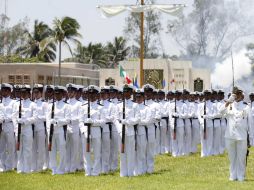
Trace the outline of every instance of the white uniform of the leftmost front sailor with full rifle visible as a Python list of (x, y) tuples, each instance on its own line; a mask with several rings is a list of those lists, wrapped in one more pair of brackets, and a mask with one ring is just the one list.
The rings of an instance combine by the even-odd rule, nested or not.
[(20, 150), (17, 151), (18, 173), (30, 173), (32, 171), (32, 151), (33, 151), (33, 130), (32, 124), (37, 118), (36, 105), (30, 99), (21, 101), (21, 119), (19, 118), (19, 102), (16, 102), (13, 122), (15, 123), (15, 133), (18, 135), (18, 122), (22, 120), (21, 134), (20, 134)]

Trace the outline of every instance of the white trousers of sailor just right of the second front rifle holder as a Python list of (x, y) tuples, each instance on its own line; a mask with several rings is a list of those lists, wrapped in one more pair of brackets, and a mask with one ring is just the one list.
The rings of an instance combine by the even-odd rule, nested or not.
[(79, 161), (79, 133), (67, 133), (65, 172), (75, 172)]

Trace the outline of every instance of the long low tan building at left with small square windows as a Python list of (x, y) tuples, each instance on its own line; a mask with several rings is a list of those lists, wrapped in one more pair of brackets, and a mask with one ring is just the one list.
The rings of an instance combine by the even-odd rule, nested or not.
[[(99, 67), (91, 64), (62, 63), (61, 84), (99, 85)], [(1, 63), (2, 82), (11, 84), (58, 84), (58, 63)]]

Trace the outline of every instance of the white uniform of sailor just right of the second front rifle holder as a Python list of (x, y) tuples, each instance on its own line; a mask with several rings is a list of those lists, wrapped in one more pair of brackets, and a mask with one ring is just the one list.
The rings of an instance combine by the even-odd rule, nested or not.
[(70, 108), (70, 123), (67, 125), (65, 172), (75, 172), (79, 167), (79, 121), (82, 103), (76, 98), (67, 101)]

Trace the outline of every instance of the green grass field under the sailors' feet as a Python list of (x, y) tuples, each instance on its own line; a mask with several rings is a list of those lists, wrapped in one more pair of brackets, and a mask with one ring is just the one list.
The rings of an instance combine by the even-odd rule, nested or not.
[(254, 148), (250, 149), (245, 182), (228, 180), (227, 155), (200, 158), (199, 153), (188, 157), (170, 155), (156, 157), (155, 173), (132, 178), (120, 178), (119, 171), (99, 177), (85, 177), (83, 172), (52, 176), (50, 171), (36, 174), (0, 174), (0, 190), (48, 189), (188, 189), (233, 190), (254, 189)]

